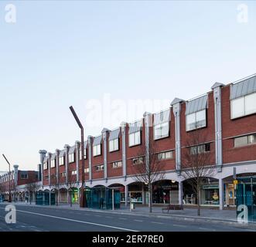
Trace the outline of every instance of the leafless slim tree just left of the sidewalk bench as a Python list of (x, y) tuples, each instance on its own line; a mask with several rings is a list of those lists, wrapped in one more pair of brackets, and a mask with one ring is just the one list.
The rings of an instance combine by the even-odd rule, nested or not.
[[(137, 158), (133, 160), (132, 170), (134, 171), (135, 181), (140, 181), (148, 187), (148, 208), (152, 212), (152, 184), (155, 181), (165, 178), (165, 164), (159, 159), (155, 152), (156, 146), (152, 143), (148, 147), (142, 145), (139, 149)], [(148, 154), (148, 162), (146, 162)], [(131, 200), (131, 199), (130, 199)]]

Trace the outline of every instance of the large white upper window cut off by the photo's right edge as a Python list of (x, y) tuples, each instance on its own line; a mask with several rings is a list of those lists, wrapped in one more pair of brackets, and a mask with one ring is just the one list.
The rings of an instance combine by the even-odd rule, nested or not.
[(256, 113), (256, 93), (231, 100), (231, 119)]

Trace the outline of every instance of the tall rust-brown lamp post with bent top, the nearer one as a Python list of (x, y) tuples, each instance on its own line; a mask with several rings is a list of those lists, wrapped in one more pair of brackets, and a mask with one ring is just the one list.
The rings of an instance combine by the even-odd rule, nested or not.
[(80, 188), (80, 208), (85, 208), (85, 197), (84, 197), (84, 188), (85, 188), (85, 183), (84, 183), (84, 127), (82, 123), (80, 122), (79, 118), (77, 117), (77, 113), (75, 110), (73, 110), (73, 107), (70, 107), (70, 110), (73, 114), (73, 117), (77, 121), (78, 126), (80, 127), (81, 130), (81, 161), (82, 161), (82, 185)]

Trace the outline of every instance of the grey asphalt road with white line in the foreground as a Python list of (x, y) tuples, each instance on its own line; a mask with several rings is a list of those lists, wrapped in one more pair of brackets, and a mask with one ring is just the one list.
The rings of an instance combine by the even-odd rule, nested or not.
[(256, 231), (256, 228), (213, 222), (188, 222), (170, 218), (121, 215), (111, 212), (43, 208), (16, 205), (16, 223), (5, 222), (5, 205), (0, 205), (0, 232), (237, 232)]

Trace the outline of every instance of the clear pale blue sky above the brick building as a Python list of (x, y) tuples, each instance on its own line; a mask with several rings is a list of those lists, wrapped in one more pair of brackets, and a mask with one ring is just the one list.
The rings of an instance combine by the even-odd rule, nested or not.
[(254, 1), (1, 1), (0, 154), (36, 170), (40, 149), (80, 139), (71, 105), (97, 136), (256, 73), (255, 14)]

